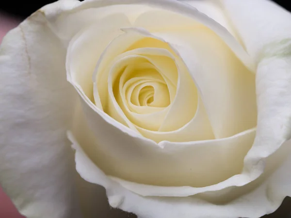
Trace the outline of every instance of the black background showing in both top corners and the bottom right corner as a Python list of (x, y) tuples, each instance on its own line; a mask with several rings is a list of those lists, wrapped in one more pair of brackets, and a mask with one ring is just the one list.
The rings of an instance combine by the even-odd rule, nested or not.
[[(55, 0), (0, 0), (0, 12), (24, 19), (37, 9)], [(4, 1), (4, 2), (3, 2)], [(282, 7), (291, 11), (291, 0), (274, 0)], [(291, 198), (286, 198), (281, 207), (274, 213), (263, 218), (291, 218)]]

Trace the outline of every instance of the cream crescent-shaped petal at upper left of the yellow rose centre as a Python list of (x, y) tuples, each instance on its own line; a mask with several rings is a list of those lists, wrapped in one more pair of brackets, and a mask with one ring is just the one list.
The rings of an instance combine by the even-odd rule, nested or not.
[[(67, 79), (79, 92), (102, 109), (99, 98), (93, 96), (92, 75), (107, 45), (118, 35), (122, 27), (130, 26), (122, 14), (104, 17), (93, 25), (81, 29), (69, 43), (66, 58)], [(97, 90), (95, 90), (96, 92)]]

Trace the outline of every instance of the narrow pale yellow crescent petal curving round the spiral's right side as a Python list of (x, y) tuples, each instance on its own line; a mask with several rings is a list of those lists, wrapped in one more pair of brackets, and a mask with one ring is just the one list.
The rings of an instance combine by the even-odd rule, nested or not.
[[(178, 56), (178, 54), (166, 43), (162, 38), (156, 37), (144, 29), (128, 28), (126, 31), (135, 32), (136, 34), (144, 35), (145, 38), (137, 41), (130, 48), (136, 47), (162, 47), (169, 51), (169, 55), (173, 57), (178, 69), (177, 74), (177, 89), (175, 100), (168, 111), (159, 131), (174, 131), (186, 125), (192, 120), (196, 113), (198, 95), (194, 80), (191, 78), (188, 69)], [(154, 60), (156, 61), (156, 59)], [(161, 59), (159, 59), (161, 61)], [(156, 63), (154, 63), (156, 64)], [(166, 72), (166, 71), (163, 71)]]

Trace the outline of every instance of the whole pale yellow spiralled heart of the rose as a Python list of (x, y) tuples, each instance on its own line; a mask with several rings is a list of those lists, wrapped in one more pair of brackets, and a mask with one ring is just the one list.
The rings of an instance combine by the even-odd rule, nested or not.
[[(124, 31), (125, 34), (118, 36), (106, 49), (95, 71), (95, 84), (104, 111), (117, 121), (115, 116), (123, 117), (122, 124), (126, 123), (140, 133), (145, 133), (143, 130), (168, 132), (181, 129), (193, 120), (198, 103), (196, 86), (187, 67), (161, 38), (143, 29), (127, 28)], [(129, 39), (133, 42), (131, 45)], [(125, 45), (124, 50), (120, 45)], [(108, 62), (109, 56), (116, 51), (120, 54)], [(120, 62), (126, 59), (131, 60), (130, 64)], [(111, 69), (115, 64), (122, 66), (116, 71), (117, 68)], [(141, 67), (142, 64), (148, 66)], [(102, 82), (106, 77), (111, 79), (108, 83)], [(143, 93), (146, 82), (146, 86), (152, 88)], [(108, 92), (103, 90), (106, 86)], [(106, 97), (107, 93), (110, 96)], [(154, 138), (162, 138), (162, 135)]]

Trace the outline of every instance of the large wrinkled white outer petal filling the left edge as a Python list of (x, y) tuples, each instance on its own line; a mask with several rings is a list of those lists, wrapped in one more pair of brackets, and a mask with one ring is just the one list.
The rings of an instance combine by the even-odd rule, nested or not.
[(0, 183), (27, 218), (81, 217), (65, 135), (76, 97), (65, 52), (40, 11), (0, 47)]

